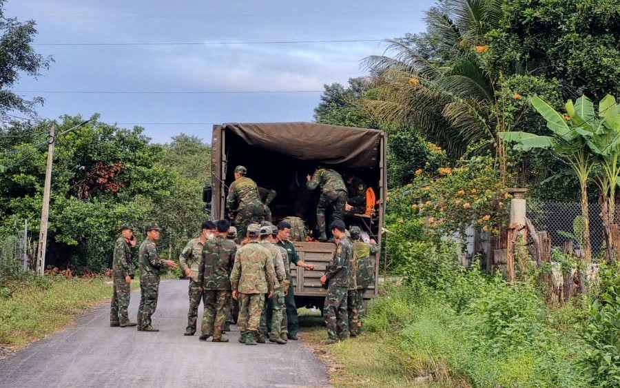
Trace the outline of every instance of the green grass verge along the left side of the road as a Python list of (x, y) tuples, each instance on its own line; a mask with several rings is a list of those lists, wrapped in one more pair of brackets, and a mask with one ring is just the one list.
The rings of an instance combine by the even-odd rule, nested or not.
[(108, 282), (45, 276), (6, 284), (0, 296), (0, 344), (19, 347), (69, 325), (85, 309), (110, 298)]

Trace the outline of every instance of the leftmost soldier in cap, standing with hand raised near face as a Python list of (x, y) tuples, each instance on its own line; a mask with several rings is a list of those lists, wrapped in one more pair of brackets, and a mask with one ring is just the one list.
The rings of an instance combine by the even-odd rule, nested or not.
[(112, 258), (112, 280), (114, 291), (112, 292), (112, 304), (110, 305), (110, 326), (127, 327), (138, 325), (130, 322), (127, 316), (132, 278), (134, 278), (133, 256), (136, 252), (136, 238), (129, 224), (121, 226), (121, 237), (114, 243), (114, 256)]

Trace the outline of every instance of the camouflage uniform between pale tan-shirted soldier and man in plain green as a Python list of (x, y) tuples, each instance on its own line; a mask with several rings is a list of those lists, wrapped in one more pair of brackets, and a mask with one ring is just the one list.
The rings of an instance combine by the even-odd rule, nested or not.
[[(285, 271), (284, 261), (282, 259), (282, 253), (280, 248), (269, 243), (269, 241), (261, 241), (259, 243), (262, 247), (269, 250), (273, 263), (273, 268), (276, 272), (276, 278), (278, 283), (282, 283), (282, 280), (287, 280), (287, 273)], [(280, 337), (280, 325), (282, 324), (282, 313), (285, 307), (285, 295), (282, 287), (273, 291), (271, 299), (267, 300), (265, 307), (262, 309), (262, 316), (260, 316), (260, 332), (261, 334), (270, 334), (274, 337)], [(269, 325), (267, 324), (267, 312), (269, 312)], [(268, 332), (269, 331), (269, 332)]]

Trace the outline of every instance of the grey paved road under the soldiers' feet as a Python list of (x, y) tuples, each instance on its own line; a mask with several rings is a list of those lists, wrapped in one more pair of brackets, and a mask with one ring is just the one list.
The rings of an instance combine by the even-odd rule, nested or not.
[[(132, 294), (135, 319), (139, 292)], [(327, 369), (300, 341), (247, 346), (239, 332), (229, 343), (183, 336), (187, 282), (160, 285), (158, 333), (110, 327), (110, 307), (88, 312), (76, 325), (0, 360), (0, 387), (323, 387)], [(200, 310), (202, 307), (200, 307)], [(202, 314), (201, 311), (198, 312)], [(200, 316), (200, 315), (199, 315)], [(200, 332), (200, 331), (198, 331)], [(268, 364), (269, 362), (269, 364)]]

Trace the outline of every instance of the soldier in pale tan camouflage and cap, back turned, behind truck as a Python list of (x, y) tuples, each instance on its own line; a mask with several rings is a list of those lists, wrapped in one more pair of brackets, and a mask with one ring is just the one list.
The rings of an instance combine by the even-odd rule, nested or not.
[(269, 251), (258, 244), (260, 227), (250, 224), (247, 227), (248, 243), (239, 248), (235, 265), (230, 275), (232, 297), (239, 300), (237, 327), (241, 333), (240, 343), (257, 345), (258, 324), (265, 294), (268, 298), (273, 290), (280, 287), (276, 273), (269, 265)]

